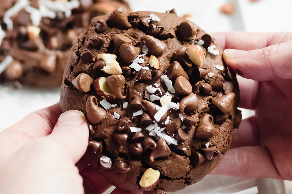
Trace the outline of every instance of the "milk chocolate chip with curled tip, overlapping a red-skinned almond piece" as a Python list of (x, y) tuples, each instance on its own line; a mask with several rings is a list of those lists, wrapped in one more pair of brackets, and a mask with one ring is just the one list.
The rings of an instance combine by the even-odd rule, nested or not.
[(107, 85), (118, 99), (125, 99), (127, 96), (122, 94), (122, 89), (126, 83), (123, 75), (111, 75), (106, 79)]

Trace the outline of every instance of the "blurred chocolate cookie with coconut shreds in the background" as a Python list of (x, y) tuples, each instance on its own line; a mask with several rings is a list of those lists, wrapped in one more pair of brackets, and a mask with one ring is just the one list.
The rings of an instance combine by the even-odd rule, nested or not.
[(71, 47), (93, 17), (120, 6), (130, 10), (123, 0), (5, 2), (0, 5), (6, 33), (0, 47), (0, 82), (44, 88), (61, 86)]

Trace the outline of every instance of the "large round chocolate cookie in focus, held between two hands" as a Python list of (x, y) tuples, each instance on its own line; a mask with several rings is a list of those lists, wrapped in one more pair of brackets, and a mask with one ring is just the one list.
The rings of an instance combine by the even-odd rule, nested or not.
[(63, 77), (62, 111), (90, 129), (85, 158), (114, 186), (178, 191), (207, 175), (241, 122), (236, 74), (199, 26), (122, 8), (95, 17)]

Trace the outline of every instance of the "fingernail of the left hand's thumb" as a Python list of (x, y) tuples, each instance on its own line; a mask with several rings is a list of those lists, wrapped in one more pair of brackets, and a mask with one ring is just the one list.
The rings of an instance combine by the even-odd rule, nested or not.
[(79, 125), (84, 123), (85, 120), (85, 116), (81, 111), (70, 110), (60, 115), (58, 118), (57, 127), (67, 124)]

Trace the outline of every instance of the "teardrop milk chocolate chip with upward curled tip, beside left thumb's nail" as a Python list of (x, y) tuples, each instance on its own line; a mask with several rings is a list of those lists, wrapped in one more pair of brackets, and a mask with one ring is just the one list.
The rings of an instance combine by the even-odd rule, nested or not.
[(98, 106), (95, 96), (89, 96), (86, 100), (86, 113), (88, 121), (92, 124), (96, 124), (105, 118), (107, 111)]

